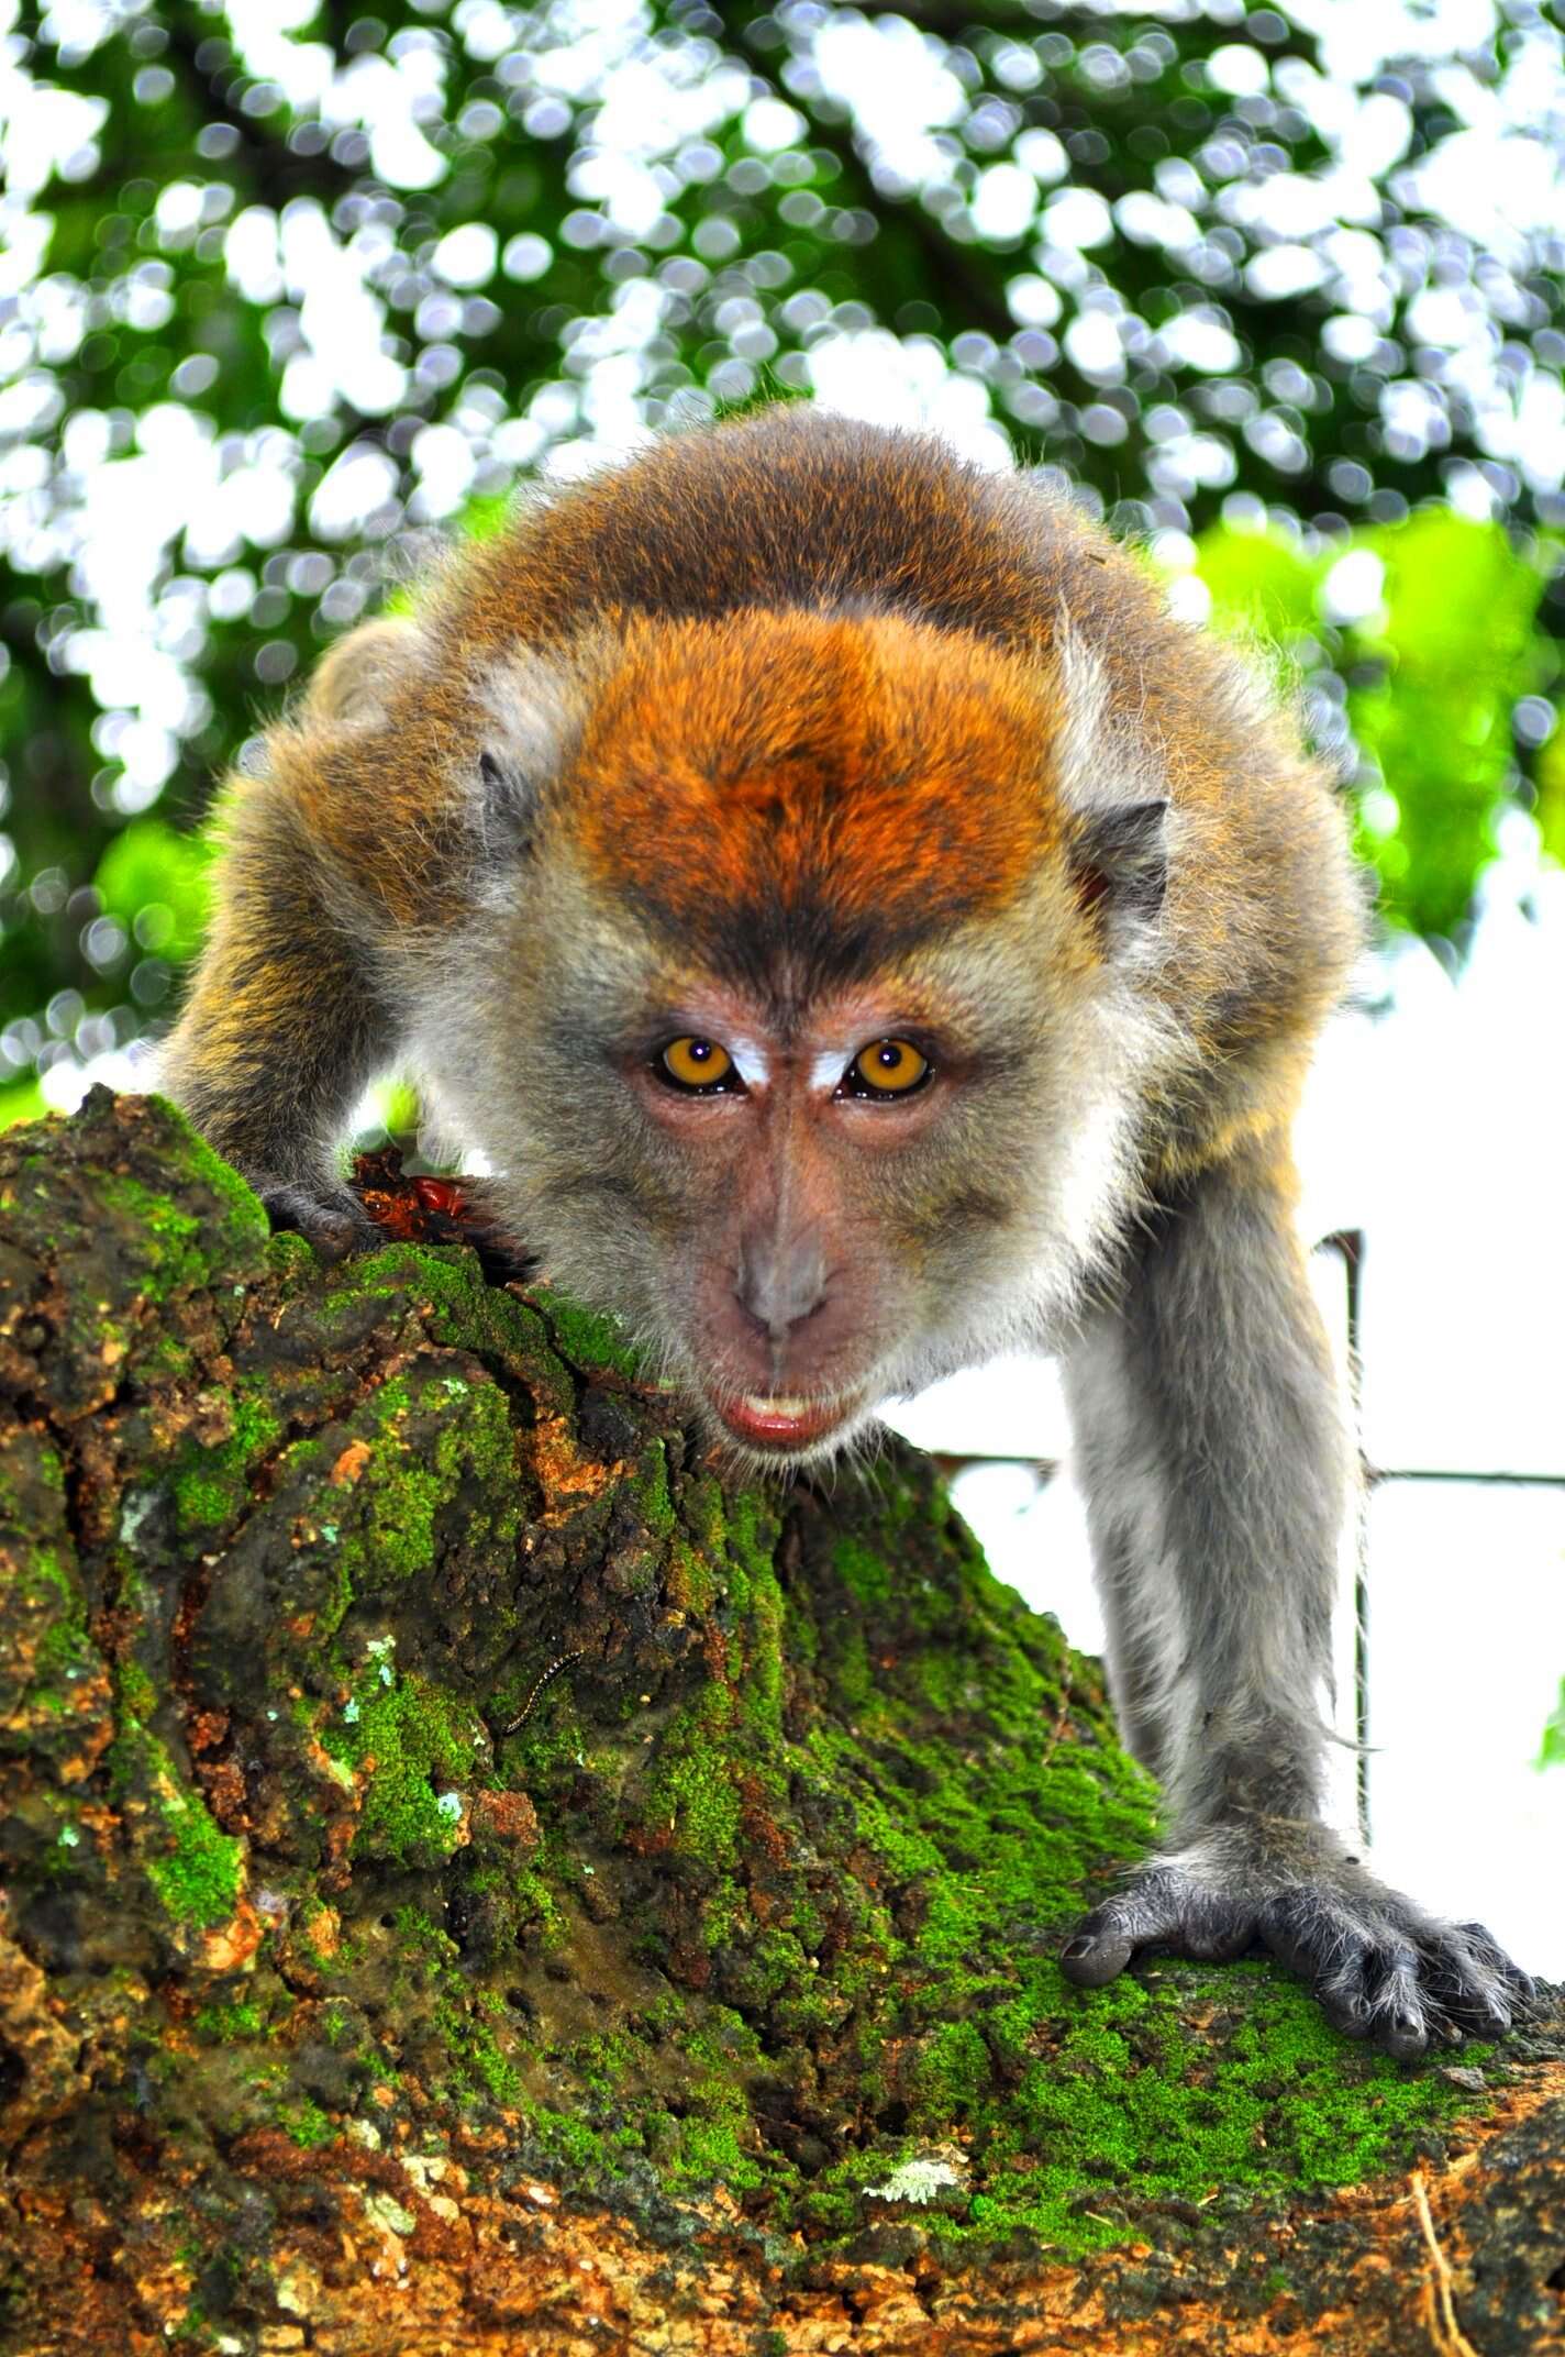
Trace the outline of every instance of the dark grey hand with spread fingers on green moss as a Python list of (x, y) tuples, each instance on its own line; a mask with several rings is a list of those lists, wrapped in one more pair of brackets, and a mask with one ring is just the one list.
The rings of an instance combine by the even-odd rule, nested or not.
[(1277, 1843), (1228, 1824), (1150, 1860), (1094, 1907), (1061, 1968), (1101, 1989), (1143, 1947), (1223, 1961), (1270, 1949), (1310, 1982), (1336, 2029), (1398, 2062), (1431, 2039), (1501, 2036), (1537, 1994), (1483, 1923), (1424, 1914), (1325, 1827), (1289, 1827)]

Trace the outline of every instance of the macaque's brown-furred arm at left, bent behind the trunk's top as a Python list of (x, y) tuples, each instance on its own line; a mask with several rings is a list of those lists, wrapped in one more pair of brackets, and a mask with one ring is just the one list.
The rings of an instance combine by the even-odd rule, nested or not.
[(226, 813), (219, 903), (158, 1084), (280, 1226), (337, 1259), (375, 1235), (335, 1167), (394, 1028), (290, 799), (269, 780)]

